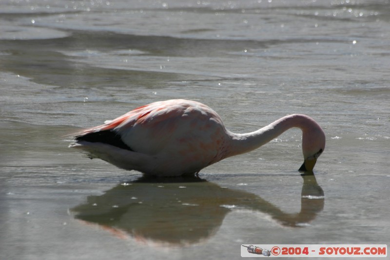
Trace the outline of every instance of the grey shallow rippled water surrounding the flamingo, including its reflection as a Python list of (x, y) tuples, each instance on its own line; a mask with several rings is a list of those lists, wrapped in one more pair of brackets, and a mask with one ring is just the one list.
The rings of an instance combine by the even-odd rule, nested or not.
[[(388, 1), (1, 1), (1, 259), (239, 259), (241, 244), (389, 244)], [(67, 148), (157, 100), (228, 129), (292, 113), (324, 128), (193, 179), (144, 180)]]

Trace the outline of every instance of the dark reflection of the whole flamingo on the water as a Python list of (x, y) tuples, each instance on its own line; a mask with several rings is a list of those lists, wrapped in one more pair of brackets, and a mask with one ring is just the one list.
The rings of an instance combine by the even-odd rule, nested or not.
[(72, 212), (76, 219), (137, 240), (185, 245), (210, 238), (233, 208), (266, 213), (284, 226), (304, 226), (323, 209), (324, 192), (314, 175), (302, 178), (301, 210), (296, 214), (284, 213), (257, 195), (196, 178), (140, 178), (89, 196)]

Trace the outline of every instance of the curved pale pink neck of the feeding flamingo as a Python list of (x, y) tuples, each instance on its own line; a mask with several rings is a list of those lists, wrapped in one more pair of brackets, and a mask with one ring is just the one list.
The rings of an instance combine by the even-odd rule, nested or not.
[(235, 134), (229, 132), (228, 134), (231, 136), (231, 145), (227, 157), (252, 151), (280, 136), (286, 130), (294, 127), (300, 128), (303, 132), (303, 150), (305, 150), (304, 146), (306, 146), (307, 142), (305, 139), (308, 139), (307, 136), (309, 136), (307, 133), (315, 133), (318, 131), (323, 133), (321, 127), (310, 117), (294, 114), (276, 120), (273, 123), (251, 133)]

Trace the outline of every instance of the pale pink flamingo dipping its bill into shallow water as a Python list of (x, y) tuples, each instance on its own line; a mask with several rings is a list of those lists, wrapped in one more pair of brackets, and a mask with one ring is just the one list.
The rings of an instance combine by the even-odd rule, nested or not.
[(286, 130), (302, 130), (302, 172), (312, 172), (325, 149), (322, 128), (305, 115), (285, 116), (251, 133), (227, 130), (210, 107), (192, 100), (165, 100), (81, 130), (70, 147), (146, 176), (196, 175), (225, 158), (252, 151)]

